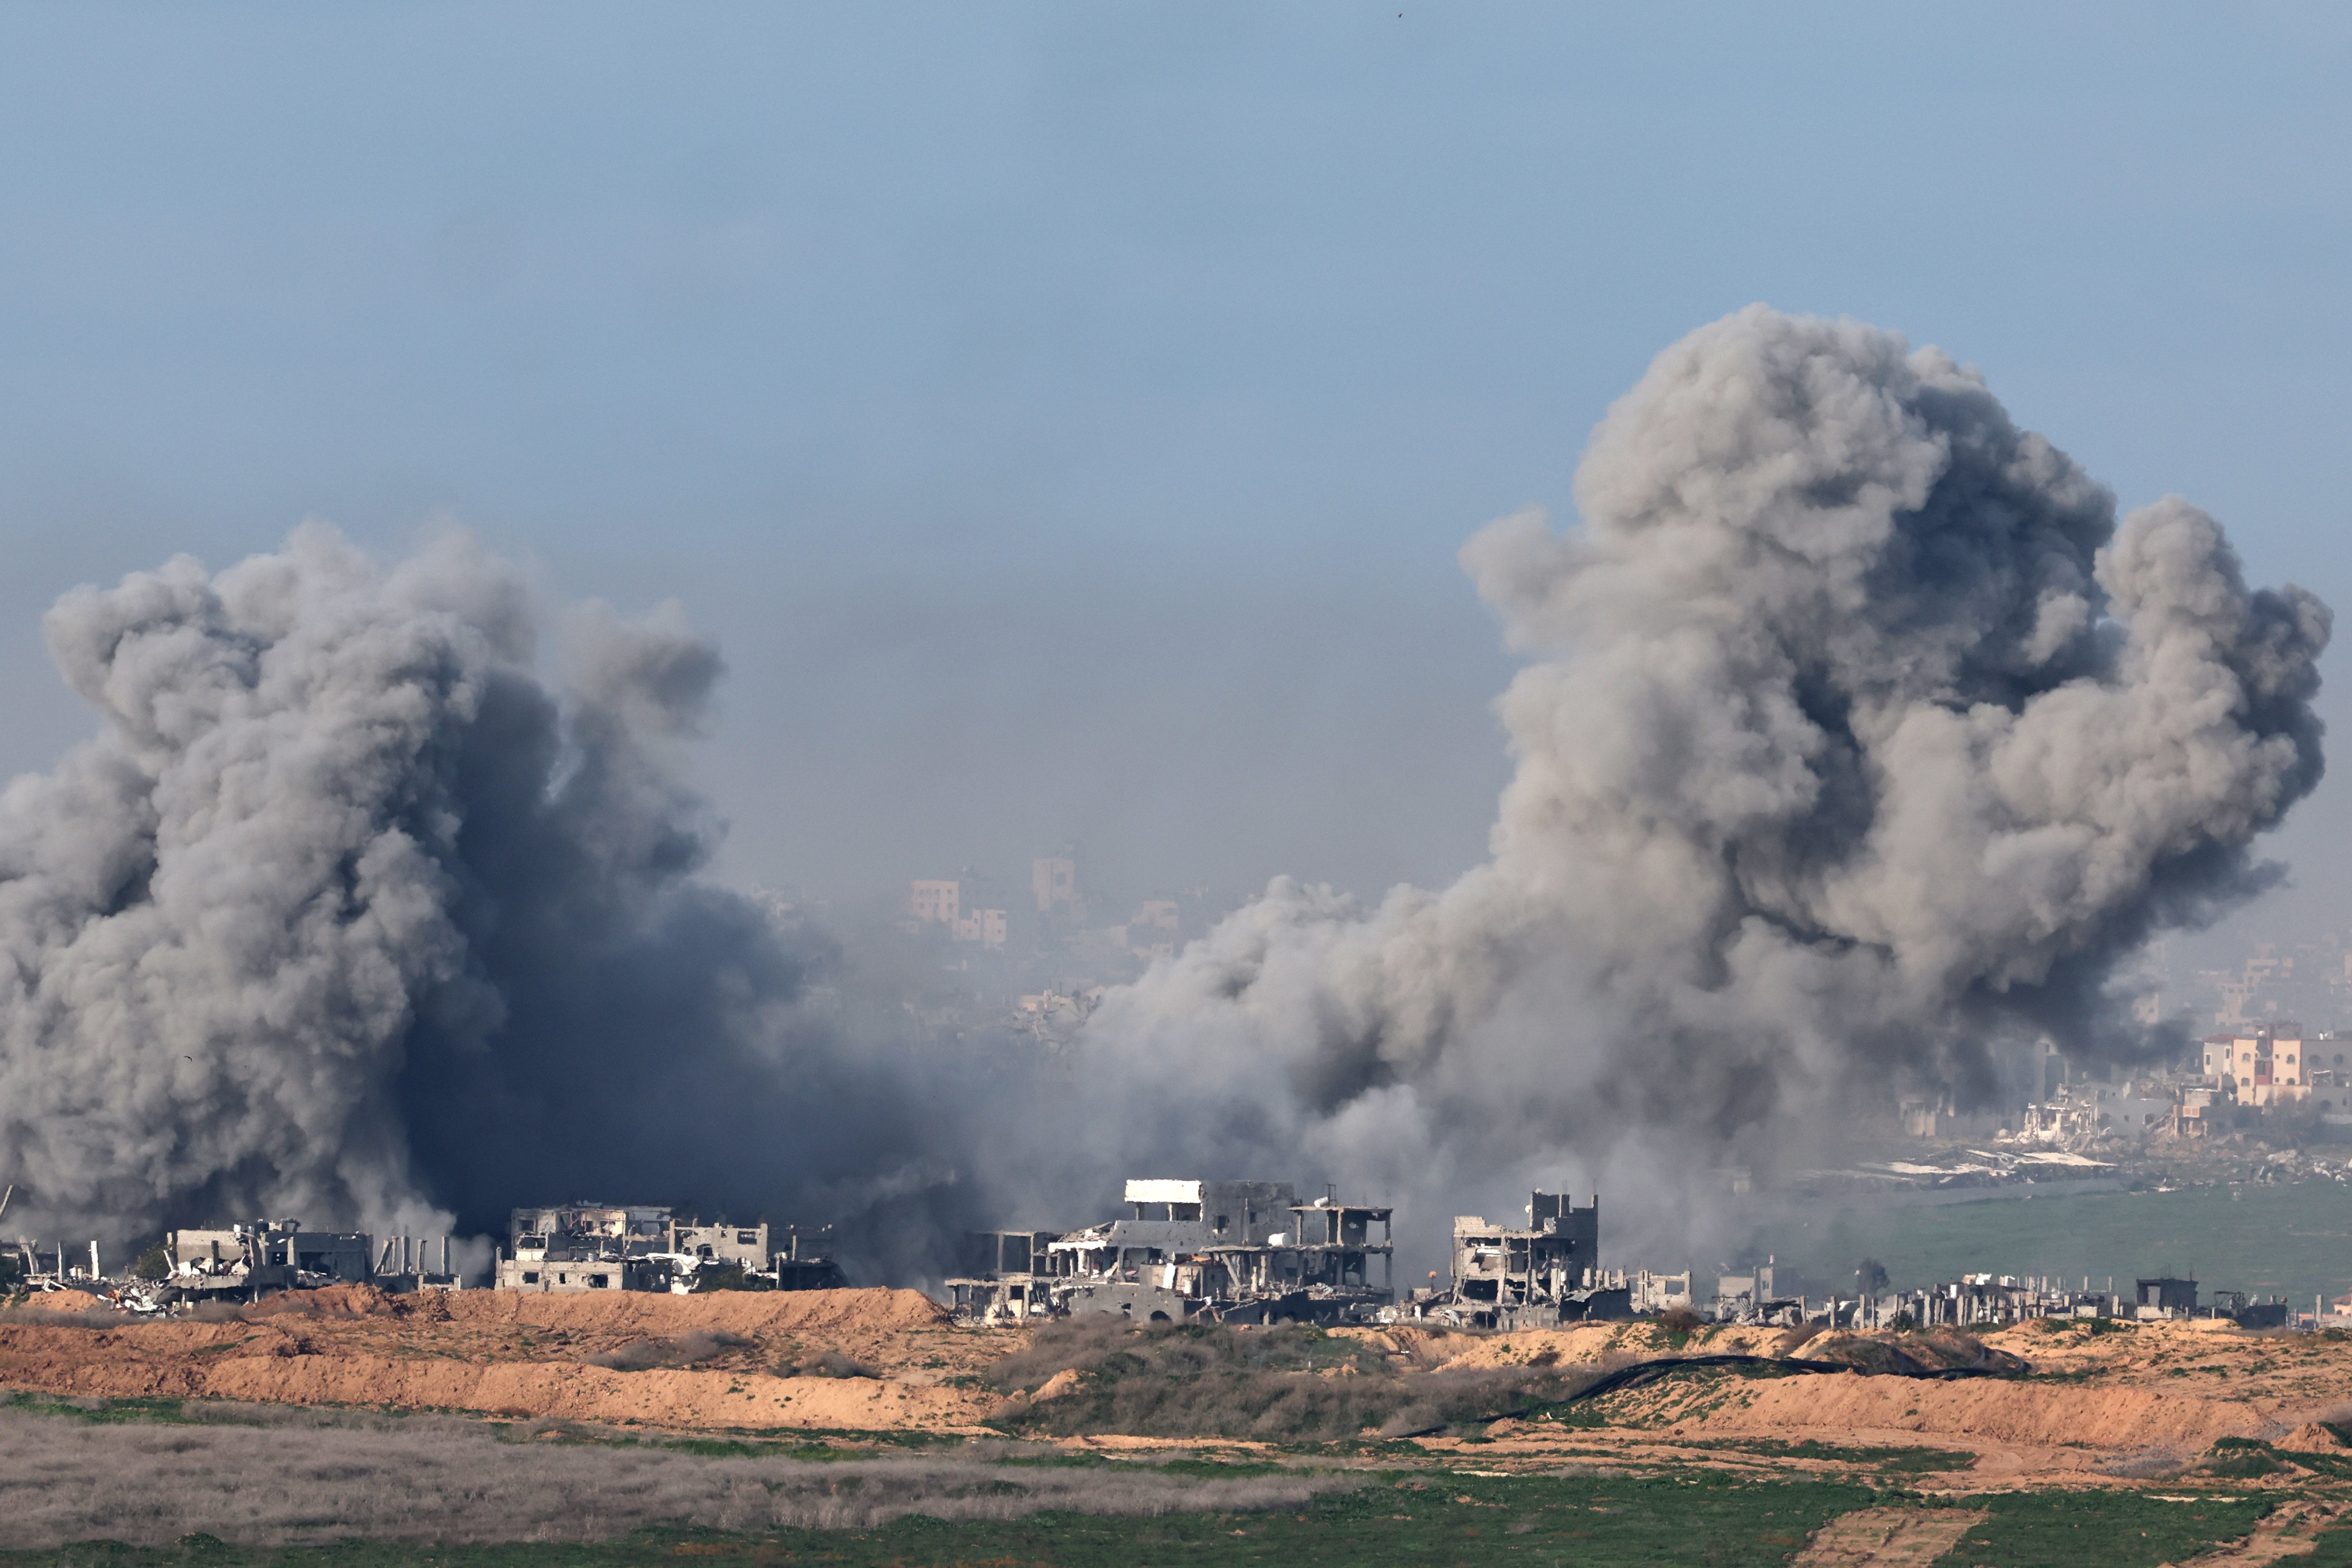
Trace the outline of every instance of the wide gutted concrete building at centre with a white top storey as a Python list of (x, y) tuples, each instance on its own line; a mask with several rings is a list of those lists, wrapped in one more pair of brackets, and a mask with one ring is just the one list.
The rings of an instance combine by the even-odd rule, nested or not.
[(1395, 1300), (1385, 1206), (1200, 1178), (1136, 1178), (1124, 1201), (1131, 1213), (1068, 1234), (976, 1232), (971, 1262), (985, 1267), (948, 1281), (957, 1312), (1336, 1324)]

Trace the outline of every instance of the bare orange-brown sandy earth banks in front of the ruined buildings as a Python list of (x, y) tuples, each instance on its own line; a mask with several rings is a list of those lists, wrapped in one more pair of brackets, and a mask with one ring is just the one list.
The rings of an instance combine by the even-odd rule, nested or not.
[[(89, 1319), (0, 1316), (0, 1385), (56, 1394), (482, 1410), (668, 1429), (976, 1432), (997, 1403), (985, 1387), (988, 1366), (1023, 1342), (1018, 1328), (953, 1324), (913, 1291), (386, 1298), (336, 1288), (273, 1305), (275, 1312), (252, 1321), (87, 1326)], [(741, 1342), (713, 1345), (708, 1335)], [(1653, 1324), (1350, 1335), (1404, 1373), (1835, 1352), (1828, 1338), (1799, 1342), (1769, 1328), (1675, 1340)], [(647, 1342), (654, 1354), (642, 1354)], [(680, 1349), (680, 1342), (687, 1345)], [(2352, 1338), (2246, 1333), (2227, 1324), (2110, 1326), (2107, 1333), (2027, 1324), (1985, 1335), (1985, 1345), (2023, 1356), (2037, 1375), (1955, 1382), (1863, 1373), (1677, 1378), (1613, 1394), (1606, 1427), (1517, 1420), (1498, 1422), (1491, 1441), (1475, 1448), (1449, 1439), (1430, 1446), (1461, 1448), (1463, 1460), (1501, 1467), (1682, 1460), (1780, 1472), (1835, 1467), (1778, 1453), (1783, 1443), (1922, 1446), (1973, 1455), (1966, 1472), (1922, 1476), (1929, 1488), (1950, 1483), (1957, 1490), (2138, 1483), (2107, 1467), (2147, 1458), (2154, 1469), (2166, 1455), (2194, 1458), (2223, 1436), (2352, 1458), (2352, 1448), (2317, 1425), (2338, 1406), (2352, 1408)], [(647, 1371), (595, 1363), (633, 1347), (635, 1361), (670, 1363)], [(851, 1375), (809, 1375), (816, 1368)]]

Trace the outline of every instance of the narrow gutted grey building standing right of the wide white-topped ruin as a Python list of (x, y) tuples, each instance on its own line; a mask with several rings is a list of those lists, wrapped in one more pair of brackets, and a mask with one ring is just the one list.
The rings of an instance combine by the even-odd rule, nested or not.
[[(1602, 1201), (1578, 1208), (1562, 1192), (1536, 1192), (1526, 1229), (1482, 1215), (1454, 1218), (1454, 1284), (1428, 1305), (1479, 1328), (1552, 1328), (1583, 1319), (1632, 1316), (1632, 1291), (1599, 1274)], [(1684, 1284), (1689, 1295), (1689, 1284)]]

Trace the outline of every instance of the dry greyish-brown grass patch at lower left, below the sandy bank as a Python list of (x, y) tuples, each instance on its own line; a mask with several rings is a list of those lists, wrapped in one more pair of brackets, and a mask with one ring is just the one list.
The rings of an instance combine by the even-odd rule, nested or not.
[(642, 1526), (870, 1528), (906, 1514), (1018, 1519), (1042, 1509), (1178, 1514), (1296, 1509), (1359, 1486), (1343, 1474), (1190, 1476), (1157, 1467), (995, 1465), (974, 1458), (807, 1462), (564, 1441), (433, 1415), (191, 1406), (186, 1422), (85, 1422), (0, 1408), (9, 1544), (249, 1547), (343, 1537), (588, 1542)]

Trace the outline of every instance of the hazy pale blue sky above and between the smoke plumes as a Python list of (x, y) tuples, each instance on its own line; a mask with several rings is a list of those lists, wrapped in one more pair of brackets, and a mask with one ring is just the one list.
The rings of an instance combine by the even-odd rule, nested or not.
[(0, 5), (0, 773), (64, 588), (456, 520), (720, 639), (731, 879), (1442, 882), (1454, 550), (1748, 301), (2352, 611), (2347, 78), (2324, 5)]

